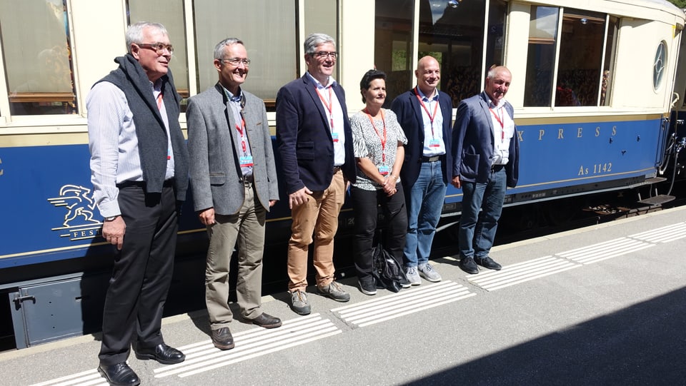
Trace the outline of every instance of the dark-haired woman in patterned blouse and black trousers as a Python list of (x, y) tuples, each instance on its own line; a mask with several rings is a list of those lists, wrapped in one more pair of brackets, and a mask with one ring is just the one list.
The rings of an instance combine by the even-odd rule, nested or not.
[[(359, 88), (367, 107), (350, 119), (357, 160), (357, 182), (350, 188), (355, 217), (354, 258), (360, 290), (374, 295), (377, 286), (372, 276), (372, 245), (378, 205), (382, 207), (386, 225), (382, 245), (402, 262), (407, 211), (399, 173), (407, 138), (395, 113), (382, 108), (386, 100), (386, 74), (367, 71)], [(407, 284), (402, 283), (404, 288), (409, 287)]]

